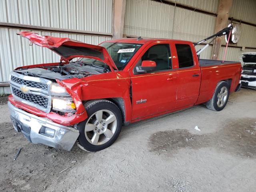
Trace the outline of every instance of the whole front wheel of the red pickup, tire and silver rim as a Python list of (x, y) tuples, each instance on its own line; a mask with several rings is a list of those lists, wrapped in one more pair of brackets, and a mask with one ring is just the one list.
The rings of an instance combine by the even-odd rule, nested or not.
[(78, 142), (85, 150), (96, 152), (108, 148), (118, 138), (122, 114), (109, 100), (92, 100), (85, 104), (88, 118), (80, 122)]

